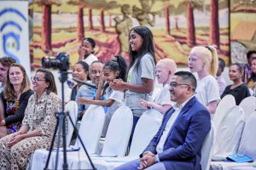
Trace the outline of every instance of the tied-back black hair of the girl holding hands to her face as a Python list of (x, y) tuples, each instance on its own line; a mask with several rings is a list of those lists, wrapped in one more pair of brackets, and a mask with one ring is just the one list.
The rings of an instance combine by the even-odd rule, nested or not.
[[(127, 80), (127, 63), (126, 60), (119, 56), (115, 55), (112, 60), (109, 60), (103, 67), (103, 69), (108, 69), (110, 71), (119, 71), (119, 76), (116, 77), (116, 79), (122, 79), (124, 82)], [(105, 85), (102, 88), (102, 95), (105, 94), (106, 89), (108, 88), (109, 84), (105, 83)]]

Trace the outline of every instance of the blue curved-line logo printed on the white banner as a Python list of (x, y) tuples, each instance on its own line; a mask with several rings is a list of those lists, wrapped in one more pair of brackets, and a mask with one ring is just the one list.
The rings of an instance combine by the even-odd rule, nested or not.
[[(15, 8), (6, 8), (3, 11), (1, 11), (0, 12), (0, 18), (3, 16), (3, 14), (7, 14), (7, 13), (18, 14), (18, 16), (22, 20), (24, 20), (25, 22), (27, 21), (25, 16), (23, 14), (21, 14), (20, 11), (15, 9)], [(7, 22), (3, 23), (3, 26), (1, 26), (0, 31), (3, 31), (8, 26), (15, 26), (16, 28), (18, 28), (18, 30), (20, 32), (22, 31), (22, 27), (15, 21), (7, 21)], [(8, 42), (9, 38), (13, 38), (15, 40), (15, 43), (10, 44)], [(12, 53), (9, 52), (9, 48), (11, 46), (13, 48), (15, 48), (17, 51), (20, 51), (20, 35), (15, 34), (15, 32), (13, 32), (13, 31), (9, 31), (9, 33), (3, 35), (3, 49), (4, 49), (5, 54), (7, 54), (10, 57), (16, 59), (17, 63), (20, 63), (20, 59), (17, 56), (15, 56), (15, 54), (12, 54)]]

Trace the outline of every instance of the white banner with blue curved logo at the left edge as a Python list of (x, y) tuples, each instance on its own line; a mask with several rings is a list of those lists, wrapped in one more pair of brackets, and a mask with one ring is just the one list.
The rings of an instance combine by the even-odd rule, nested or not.
[(28, 2), (0, 1), (0, 57), (10, 56), (30, 76)]

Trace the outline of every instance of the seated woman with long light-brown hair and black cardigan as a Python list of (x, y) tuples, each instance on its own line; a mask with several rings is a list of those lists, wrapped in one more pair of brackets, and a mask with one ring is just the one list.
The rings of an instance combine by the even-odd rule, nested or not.
[(5, 118), (0, 121), (0, 138), (20, 130), (27, 101), (33, 94), (25, 68), (17, 63), (10, 65), (3, 93)]

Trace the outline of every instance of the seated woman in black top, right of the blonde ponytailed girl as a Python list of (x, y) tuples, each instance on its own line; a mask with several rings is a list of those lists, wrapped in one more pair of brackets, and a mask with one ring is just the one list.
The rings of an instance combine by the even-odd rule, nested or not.
[(251, 96), (247, 84), (242, 82), (244, 70), (242, 65), (235, 63), (230, 65), (230, 80), (234, 82), (234, 84), (227, 86), (225, 88), (224, 93), (221, 95), (221, 99), (224, 98), (225, 95), (231, 94), (236, 99), (236, 105), (241, 103), (242, 99), (245, 99)]

